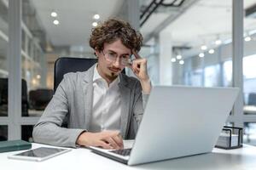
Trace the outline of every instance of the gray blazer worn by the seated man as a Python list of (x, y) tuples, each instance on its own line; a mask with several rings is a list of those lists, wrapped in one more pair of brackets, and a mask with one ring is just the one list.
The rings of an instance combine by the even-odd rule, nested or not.
[[(53, 99), (33, 129), (33, 140), (43, 144), (76, 147), (79, 134), (90, 126), (93, 96), (93, 71), (67, 73), (55, 91)], [(142, 94), (140, 82), (120, 74), (121, 129), (124, 139), (134, 139), (148, 100)], [(67, 128), (61, 127), (67, 118)]]

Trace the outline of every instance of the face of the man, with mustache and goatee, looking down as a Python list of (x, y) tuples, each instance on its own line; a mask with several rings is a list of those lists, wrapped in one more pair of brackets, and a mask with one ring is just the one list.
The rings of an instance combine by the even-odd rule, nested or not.
[[(112, 43), (105, 43), (102, 51), (96, 50), (95, 52), (98, 57), (97, 70), (107, 82), (112, 82), (125, 68), (121, 58), (127, 58), (131, 55), (131, 49), (126, 48), (119, 39)], [(117, 58), (111, 61), (108, 59), (108, 54), (116, 55)]]

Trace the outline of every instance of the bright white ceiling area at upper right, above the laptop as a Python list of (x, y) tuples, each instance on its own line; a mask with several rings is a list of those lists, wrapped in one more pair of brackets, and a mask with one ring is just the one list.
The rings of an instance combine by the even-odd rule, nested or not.
[[(255, 3), (256, 0), (244, 0), (244, 8)], [(173, 8), (170, 11), (173, 14), (179, 12)], [(141, 29), (143, 36), (147, 36), (159, 24), (165, 24), (166, 18), (166, 14), (154, 14)], [(156, 26), (154, 23), (159, 24)], [(244, 30), (256, 30), (256, 18), (245, 18)], [(231, 37), (232, 32), (232, 0), (195, 1), (163, 31), (170, 35), (173, 46), (199, 48), (203, 43), (211, 45), (217, 38), (224, 41)]]

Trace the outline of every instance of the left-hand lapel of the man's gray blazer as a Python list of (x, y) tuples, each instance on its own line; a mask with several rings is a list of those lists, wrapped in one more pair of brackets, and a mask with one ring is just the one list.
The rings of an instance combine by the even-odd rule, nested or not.
[(92, 111), (92, 96), (93, 96), (93, 71), (96, 65), (90, 67), (88, 71), (86, 71), (86, 75), (84, 76), (83, 83), (83, 93), (84, 93), (84, 114), (85, 114), (85, 123), (84, 129), (89, 129), (90, 127), (90, 117)]

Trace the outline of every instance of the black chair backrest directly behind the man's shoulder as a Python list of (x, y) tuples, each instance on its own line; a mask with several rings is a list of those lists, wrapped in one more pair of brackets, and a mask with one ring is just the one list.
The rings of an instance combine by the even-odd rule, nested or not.
[(54, 91), (67, 72), (87, 71), (98, 59), (61, 57), (55, 61)]

